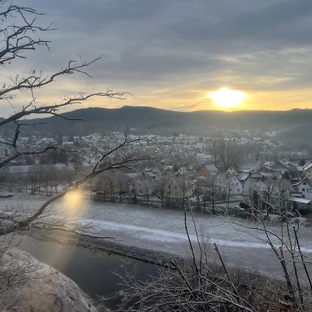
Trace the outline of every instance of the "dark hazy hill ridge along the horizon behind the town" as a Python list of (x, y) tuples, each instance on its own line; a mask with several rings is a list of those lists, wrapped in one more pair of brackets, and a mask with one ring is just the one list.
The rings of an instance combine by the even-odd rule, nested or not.
[(68, 119), (85, 119), (68, 121), (60, 116), (51, 116), (34, 121), (43, 121), (49, 125), (36, 127), (35, 131), (55, 132), (62, 135), (83, 135), (92, 132), (117, 130), (121, 127), (135, 128), (149, 133), (188, 133), (210, 135), (216, 132), (228, 134), (231, 131), (263, 132), (276, 130), (287, 133), (295, 139), (296, 132), (304, 137), (312, 133), (312, 110), (293, 109), (288, 111), (235, 111), (199, 110), (194, 112), (177, 112), (148, 106), (123, 106), (121, 108), (89, 107), (62, 116)]

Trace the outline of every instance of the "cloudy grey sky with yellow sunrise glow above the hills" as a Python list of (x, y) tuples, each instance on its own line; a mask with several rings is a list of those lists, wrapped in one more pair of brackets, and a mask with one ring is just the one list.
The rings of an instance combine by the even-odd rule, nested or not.
[[(59, 78), (37, 91), (37, 103), (113, 89), (125, 100), (96, 98), (80, 107), (144, 105), (168, 110), (291, 110), (312, 108), (311, 0), (19, 0), (46, 15), (50, 51), (26, 53), (0, 72), (58, 71), (68, 60), (103, 59), (83, 75)], [(41, 35), (41, 37), (43, 37)], [(220, 89), (243, 100), (220, 105)], [(0, 101), (1, 115), (28, 101)], [(1, 103), (3, 102), (3, 103)], [(12, 108), (13, 107), (13, 108)], [(69, 110), (78, 108), (70, 107)]]

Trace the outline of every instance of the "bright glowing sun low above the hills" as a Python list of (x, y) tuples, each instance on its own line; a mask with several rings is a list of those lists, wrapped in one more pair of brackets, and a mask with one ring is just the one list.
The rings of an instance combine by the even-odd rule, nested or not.
[(208, 97), (212, 98), (214, 103), (223, 108), (223, 110), (232, 110), (238, 107), (247, 96), (242, 91), (223, 87), (218, 91), (210, 92)]

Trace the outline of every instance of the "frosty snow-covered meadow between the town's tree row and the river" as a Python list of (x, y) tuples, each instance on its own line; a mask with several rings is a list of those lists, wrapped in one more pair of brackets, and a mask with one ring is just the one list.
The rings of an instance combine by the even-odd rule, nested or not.
[[(32, 211), (39, 207), (44, 196), (23, 196), (0, 200), (0, 207), (26, 207)], [(85, 223), (93, 222), (103, 236), (113, 236), (117, 242), (125, 245), (168, 252), (180, 256), (189, 254), (187, 235), (184, 228), (184, 213), (171, 209), (151, 208), (138, 205), (121, 205), (85, 200), (80, 207), (69, 207), (66, 200), (54, 202), (52, 214), (84, 216)], [(54, 212), (57, 211), (57, 212)], [(91, 216), (101, 212), (93, 219)], [(246, 229), (241, 225), (253, 223), (233, 218), (194, 214), (200, 237), (218, 243), (227, 263), (233, 266), (252, 268), (266, 274), (281, 274), (277, 261), (265, 239), (265, 234), (257, 230)], [(233, 223), (234, 221), (234, 223)], [(189, 232), (192, 241), (196, 241), (193, 221), (188, 217)], [(269, 229), (279, 232), (280, 225), (271, 224)], [(256, 237), (258, 236), (258, 238)], [(276, 239), (273, 241), (278, 244)], [(300, 228), (302, 250), (312, 256), (312, 230)], [(211, 254), (213, 253), (211, 248)]]

